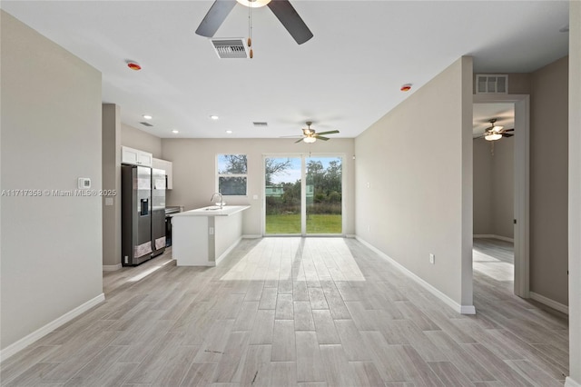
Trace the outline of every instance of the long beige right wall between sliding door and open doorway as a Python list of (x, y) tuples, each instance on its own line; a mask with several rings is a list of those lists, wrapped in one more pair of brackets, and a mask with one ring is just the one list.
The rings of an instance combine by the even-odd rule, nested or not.
[(472, 59), (463, 57), (355, 140), (359, 238), (468, 307), (471, 131)]

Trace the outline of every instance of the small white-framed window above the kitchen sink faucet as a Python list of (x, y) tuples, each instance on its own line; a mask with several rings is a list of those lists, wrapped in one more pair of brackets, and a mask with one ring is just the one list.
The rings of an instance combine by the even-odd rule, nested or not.
[(245, 196), (248, 179), (246, 154), (218, 154), (218, 192)]

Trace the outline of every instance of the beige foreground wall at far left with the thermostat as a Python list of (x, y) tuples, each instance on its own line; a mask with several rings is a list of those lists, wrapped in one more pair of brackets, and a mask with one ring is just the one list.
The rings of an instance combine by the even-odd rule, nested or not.
[[(2, 190), (101, 188), (101, 73), (1, 11)], [(3, 356), (102, 297), (101, 198), (2, 196)]]

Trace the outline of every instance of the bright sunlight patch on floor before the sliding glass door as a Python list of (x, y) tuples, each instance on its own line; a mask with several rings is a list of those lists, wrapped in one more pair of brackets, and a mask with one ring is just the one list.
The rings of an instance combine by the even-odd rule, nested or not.
[(365, 281), (343, 238), (263, 238), (222, 281)]

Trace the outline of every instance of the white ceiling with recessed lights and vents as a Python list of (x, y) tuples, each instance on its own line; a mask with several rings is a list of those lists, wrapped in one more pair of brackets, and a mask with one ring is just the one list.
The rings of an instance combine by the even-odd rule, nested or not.
[[(297, 45), (268, 7), (254, 9), (254, 59), (219, 59), (194, 34), (212, 1), (0, 6), (99, 69), (103, 102), (159, 137), (279, 137), (308, 120), (354, 137), (461, 55), (474, 56), (477, 73), (526, 73), (567, 54), (566, 1), (291, 3), (314, 37)], [(236, 5), (216, 37), (247, 32), (248, 8)], [(400, 92), (407, 83), (412, 91)], [(139, 124), (143, 114), (153, 127)]]

